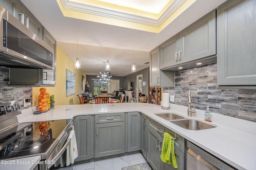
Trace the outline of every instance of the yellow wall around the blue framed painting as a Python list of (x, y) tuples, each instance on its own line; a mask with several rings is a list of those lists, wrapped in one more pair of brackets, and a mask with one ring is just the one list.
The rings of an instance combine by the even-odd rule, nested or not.
[[(58, 47), (56, 48), (56, 85), (54, 87), (45, 87), (50, 95), (55, 96), (55, 105), (72, 105), (80, 104), (78, 94), (85, 92), (82, 90), (82, 75), (86, 82), (86, 74), (80, 69), (75, 69), (74, 61), (63, 53)], [(76, 91), (71, 96), (66, 96), (66, 69), (76, 74)], [(41, 87), (33, 87), (33, 103), (38, 98), (38, 90)]]

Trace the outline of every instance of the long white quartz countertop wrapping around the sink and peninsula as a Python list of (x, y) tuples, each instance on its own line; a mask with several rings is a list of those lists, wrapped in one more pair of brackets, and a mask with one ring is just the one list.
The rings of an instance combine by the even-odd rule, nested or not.
[(239, 170), (256, 170), (256, 123), (212, 113), (212, 125), (217, 127), (204, 130), (188, 130), (179, 127), (154, 113), (174, 112), (188, 119), (204, 121), (204, 111), (196, 109), (196, 114), (187, 117), (187, 108), (170, 104), (170, 109), (148, 103), (118, 103), (118, 104), (85, 104), (55, 106), (40, 115), (34, 115), (31, 107), (22, 110), (18, 115), (20, 123), (72, 119), (78, 115), (93, 115), (102, 113), (120, 113), (139, 111), (161, 123), (168, 129), (207, 150), (226, 163)]

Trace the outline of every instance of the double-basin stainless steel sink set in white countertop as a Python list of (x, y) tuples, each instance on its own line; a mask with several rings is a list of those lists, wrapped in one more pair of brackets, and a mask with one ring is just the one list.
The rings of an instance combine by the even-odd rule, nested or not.
[(204, 123), (202, 121), (197, 121), (193, 119), (186, 119), (180, 115), (177, 115), (175, 113), (155, 113), (155, 115), (166, 119), (167, 121), (170, 121), (171, 123), (174, 123), (175, 125), (178, 125), (184, 129), (188, 130), (203, 130), (203, 129), (210, 129), (214, 128), (215, 126), (209, 125), (207, 123)]

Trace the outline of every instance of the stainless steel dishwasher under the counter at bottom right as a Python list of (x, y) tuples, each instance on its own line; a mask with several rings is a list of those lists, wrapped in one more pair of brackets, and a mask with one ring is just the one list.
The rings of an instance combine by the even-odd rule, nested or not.
[(236, 170), (190, 141), (187, 147), (187, 170)]

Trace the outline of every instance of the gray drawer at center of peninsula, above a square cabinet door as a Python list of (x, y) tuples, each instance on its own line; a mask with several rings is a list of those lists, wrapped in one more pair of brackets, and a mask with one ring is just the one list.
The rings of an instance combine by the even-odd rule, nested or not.
[(124, 121), (124, 113), (109, 113), (95, 115), (95, 123), (110, 123)]

